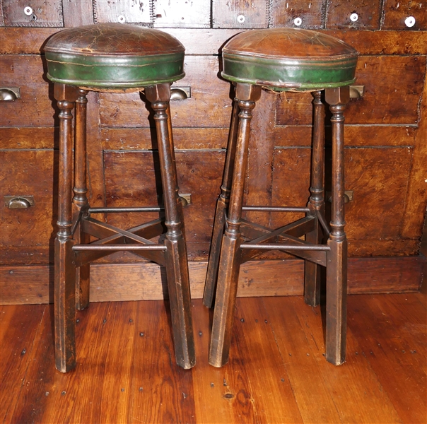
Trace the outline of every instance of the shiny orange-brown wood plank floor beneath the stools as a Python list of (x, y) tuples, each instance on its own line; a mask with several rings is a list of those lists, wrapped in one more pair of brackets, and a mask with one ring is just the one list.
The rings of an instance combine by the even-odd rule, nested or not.
[(175, 365), (168, 303), (78, 312), (76, 370), (54, 369), (52, 305), (0, 307), (1, 423), (426, 423), (426, 293), (349, 296), (347, 360), (324, 360), (321, 308), (239, 298), (230, 362)]

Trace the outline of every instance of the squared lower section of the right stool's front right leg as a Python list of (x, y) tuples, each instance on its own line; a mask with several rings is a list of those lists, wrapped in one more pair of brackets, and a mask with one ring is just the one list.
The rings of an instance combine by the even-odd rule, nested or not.
[(326, 359), (341, 365), (346, 359), (347, 241), (329, 240), (326, 289)]

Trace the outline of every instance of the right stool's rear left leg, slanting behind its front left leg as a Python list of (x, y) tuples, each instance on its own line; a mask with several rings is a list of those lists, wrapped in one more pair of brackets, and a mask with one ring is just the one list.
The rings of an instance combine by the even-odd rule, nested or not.
[(228, 134), (226, 164), (224, 166), (223, 183), (221, 184), (221, 195), (218, 197), (218, 201), (216, 201), (214, 230), (212, 232), (208, 270), (206, 272), (206, 282), (204, 284), (203, 304), (207, 307), (212, 307), (216, 290), (221, 240), (226, 226), (226, 211), (230, 201), (231, 179), (233, 177), (235, 144), (238, 134), (238, 113), (238, 100), (235, 99), (233, 102), (233, 113), (231, 114), (230, 133)]

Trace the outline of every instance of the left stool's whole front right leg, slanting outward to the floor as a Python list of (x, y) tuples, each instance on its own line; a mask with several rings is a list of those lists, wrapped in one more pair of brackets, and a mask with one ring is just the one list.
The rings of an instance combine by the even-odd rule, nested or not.
[[(191, 300), (189, 291), (189, 274), (187, 247), (182, 234), (181, 201), (177, 196), (177, 174), (173, 163), (172, 143), (168, 129), (167, 109), (170, 100), (170, 84), (158, 84), (145, 89), (146, 98), (156, 112), (158, 153), (160, 172), (165, 199), (166, 232), (166, 274), (172, 330), (177, 364), (188, 369), (196, 364), (194, 337), (192, 329)], [(182, 207), (182, 206), (181, 206)]]

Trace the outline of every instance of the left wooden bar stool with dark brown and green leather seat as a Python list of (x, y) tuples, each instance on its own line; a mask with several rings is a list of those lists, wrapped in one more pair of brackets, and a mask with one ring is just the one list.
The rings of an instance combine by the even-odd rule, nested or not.
[[(187, 249), (169, 106), (170, 84), (185, 75), (184, 52), (178, 40), (162, 31), (122, 24), (63, 30), (52, 36), (45, 46), (47, 78), (54, 82), (54, 98), (60, 110), (54, 328), (55, 360), (61, 372), (76, 365), (75, 314), (76, 308), (81, 310), (89, 304), (89, 264), (119, 251), (132, 252), (166, 267), (175, 358), (183, 368), (196, 363)], [(116, 93), (144, 90), (155, 112), (164, 208), (90, 208), (86, 196), (88, 90)], [(73, 189), (71, 112), (74, 107)], [(91, 213), (163, 210), (165, 218), (128, 230), (90, 216)], [(149, 240), (163, 233), (164, 244)], [(91, 236), (98, 240), (90, 242)]]

